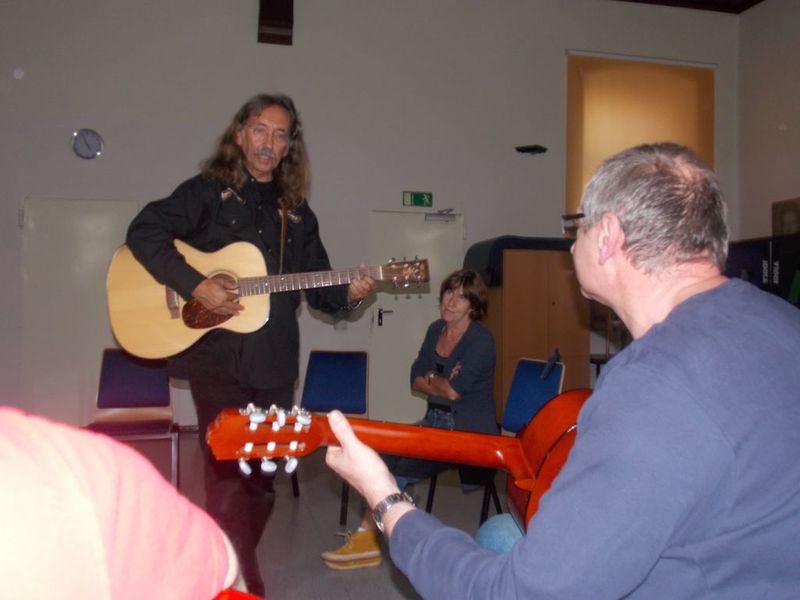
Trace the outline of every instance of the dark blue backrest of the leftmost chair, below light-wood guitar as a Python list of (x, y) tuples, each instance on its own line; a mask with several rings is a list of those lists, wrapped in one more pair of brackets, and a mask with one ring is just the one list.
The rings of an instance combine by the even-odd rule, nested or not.
[(169, 406), (166, 360), (145, 360), (123, 350), (103, 351), (97, 408)]

